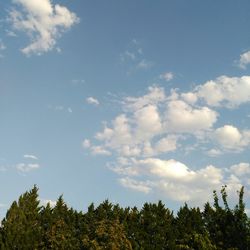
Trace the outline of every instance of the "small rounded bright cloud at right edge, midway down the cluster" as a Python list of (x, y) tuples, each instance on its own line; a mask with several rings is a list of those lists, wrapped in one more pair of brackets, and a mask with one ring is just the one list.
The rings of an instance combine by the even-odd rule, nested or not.
[(234, 126), (225, 125), (215, 130), (214, 138), (225, 149), (242, 150), (250, 144), (250, 130), (240, 131)]

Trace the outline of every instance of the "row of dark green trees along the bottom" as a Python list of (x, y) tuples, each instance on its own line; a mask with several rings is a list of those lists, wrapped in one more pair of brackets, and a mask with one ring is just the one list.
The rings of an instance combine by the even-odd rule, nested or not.
[(244, 188), (230, 208), (226, 187), (213, 204), (202, 209), (186, 203), (177, 214), (162, 201), (122, 208), (105, 200), (87, 212), (76, 211), (60, 196), (54, 207), (41, 206), (38, 188), (22, 194), (8, 209), (0, 226), (0, 249), (250, 249), (250, 220), (245, 212)]

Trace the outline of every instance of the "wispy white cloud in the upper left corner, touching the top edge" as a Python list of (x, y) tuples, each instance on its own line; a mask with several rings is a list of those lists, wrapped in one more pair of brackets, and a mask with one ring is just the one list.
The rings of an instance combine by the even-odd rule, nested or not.
[(13, 8), (9, 21), (13, 29), (27, 34), (30, 44), (21, 51), (26, 55), (41, 55), (55, 48), (62, 33), (79, 22), (77, 15), (65, 6), (50, 0), (14, 0), (21, 10)]

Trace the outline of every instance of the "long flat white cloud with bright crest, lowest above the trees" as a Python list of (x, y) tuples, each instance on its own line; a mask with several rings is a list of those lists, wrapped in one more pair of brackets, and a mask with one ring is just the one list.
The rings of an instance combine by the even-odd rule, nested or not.
[(227, 169), (208, 165), (192, 170), (174, 159), (147, 158), (124, 162), (113, 171), (124, 176), (119, 179), (124, 187), (144, 193), (161, 193), (175, 201), (201, 204), (211, 199), (212, 191), (222, 185), (228, 185), (229, 191), (239, 190), (241, 182), (235, 174), (240, 174), (239, 169), (250, 174), (249, 164), (241, 163)]

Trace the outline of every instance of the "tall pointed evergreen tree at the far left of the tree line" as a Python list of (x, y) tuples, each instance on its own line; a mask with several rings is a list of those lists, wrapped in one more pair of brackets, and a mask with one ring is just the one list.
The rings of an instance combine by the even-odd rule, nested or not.
[(14, 201), (2, 221), (4, 249), (38, 249), (41, 244), (38, 188)]

